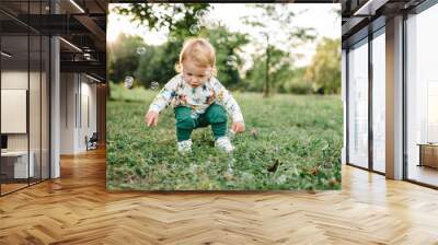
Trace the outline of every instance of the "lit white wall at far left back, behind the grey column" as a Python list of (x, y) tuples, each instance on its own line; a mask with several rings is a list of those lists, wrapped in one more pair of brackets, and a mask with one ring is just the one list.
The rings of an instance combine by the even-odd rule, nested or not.
[(91, 82), (83, 74), (61, 73), (61, 154), (87, 151), (85, 136), (96, 131), (96, 85)]

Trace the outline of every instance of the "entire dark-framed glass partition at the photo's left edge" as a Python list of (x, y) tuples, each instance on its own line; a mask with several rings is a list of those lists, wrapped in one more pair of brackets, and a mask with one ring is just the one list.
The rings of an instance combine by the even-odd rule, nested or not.
[(0, 195), (49, 177), (50, 44), (24, 24), (28, 13), (47, 13), (47, 5), (48, 1), (0, 2)]

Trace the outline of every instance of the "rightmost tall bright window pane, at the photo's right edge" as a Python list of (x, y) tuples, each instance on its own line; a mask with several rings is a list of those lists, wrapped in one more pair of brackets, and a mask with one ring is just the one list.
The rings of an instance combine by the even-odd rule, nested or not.
[(406, 20), (407, 178), (438, 187), (438, 4)]

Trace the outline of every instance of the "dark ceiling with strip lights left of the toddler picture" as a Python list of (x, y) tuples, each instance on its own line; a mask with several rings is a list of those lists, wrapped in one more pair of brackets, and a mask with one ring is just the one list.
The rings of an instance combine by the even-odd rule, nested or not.
[[(61, 72), (85, 72), (105, 81), (106, 12), (105, 0), (1, 0), (1, 33), (4, 42), (9, 42), (8, 52), (14, 54), (9, 62), (12, 66), (14, 60), (16, 63), (20, 59), (28, 60), (27, 46), (22, 44), (27, 38), (20, 36), (56, 35), (62, 37)], [(30, 50), (34, 63), (39, 50)]]

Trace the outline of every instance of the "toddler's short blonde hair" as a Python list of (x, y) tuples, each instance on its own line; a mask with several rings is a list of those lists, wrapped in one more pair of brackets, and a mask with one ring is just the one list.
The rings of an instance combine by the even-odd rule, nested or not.
[(183, 61), (188, 57), (198, 66), (211, 67), (211, 74), (216, 77), (216, 50), (207, 39), (197, 37), (184, 42), (180, 52), (180, 60), (175, 65), (175, 70), (177, 72), (182, 72)]

